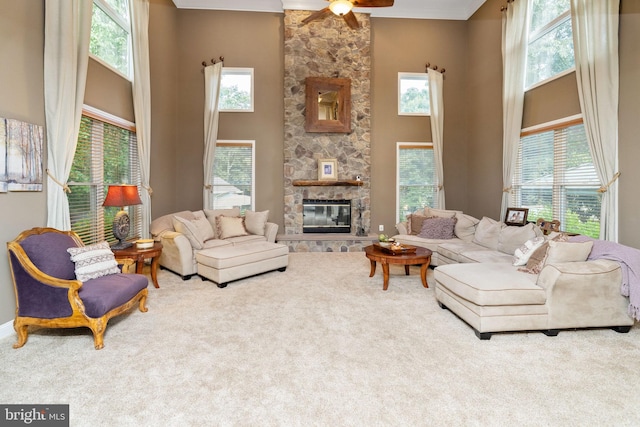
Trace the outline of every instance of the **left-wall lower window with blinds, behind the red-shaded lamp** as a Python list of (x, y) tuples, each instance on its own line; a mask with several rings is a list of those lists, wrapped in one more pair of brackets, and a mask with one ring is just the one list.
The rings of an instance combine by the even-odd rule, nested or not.
[[(78, 145), (69, 175), (71, 229), (85, 244), (113, 237), (113, 218), (120, 208), (102, 206), (111, 184), (140, 185), (140, 163), (135, 127), (94, 109), (83, 111)], [(127, 206), (130, 237), (140, 236), (142, 210)]]

